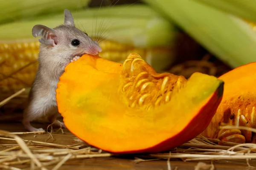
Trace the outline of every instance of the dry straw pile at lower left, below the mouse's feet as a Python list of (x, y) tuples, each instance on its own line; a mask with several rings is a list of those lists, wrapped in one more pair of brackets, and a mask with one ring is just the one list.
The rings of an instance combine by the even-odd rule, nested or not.
[[(6, 132), (4, 130), (0, 130), (0, 135), (6, 136), (6, 138), (1, 137), (0, 139), (15, 140), (17, 142), (17, 145), (9, 144), (9, 148), (0, 151), (0, 165), (2, 165), (0, 167), (7, 169), (17, 170), (17, 167), (11, 166), (27, 164), (30, 166), (30, 169), (40, 168), (41, 170), (47, 170), (46, 166), (55, 164), (55, 167), (52, 170), (57, 170), (70, 159), (112, 156), (111, 153), (91, 151), (91, 147), (79, 148), (48, 142), (23, 140), (15, 133)], [(35, 164), (36, 167), (33, 168), (33, 164)]]

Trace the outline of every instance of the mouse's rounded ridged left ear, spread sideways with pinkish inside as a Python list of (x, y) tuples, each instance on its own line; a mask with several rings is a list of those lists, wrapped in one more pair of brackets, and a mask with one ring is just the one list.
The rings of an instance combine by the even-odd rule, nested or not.
[(32, 35), (34, 37), (41, 37), (38, 40), (39, 42), (41, 42), (41, 44), (46, 44), (46, 45), (58, 44), (55, 31), (52, 28), (48, 28), (47, 26), (35, 25), (32, 28)]

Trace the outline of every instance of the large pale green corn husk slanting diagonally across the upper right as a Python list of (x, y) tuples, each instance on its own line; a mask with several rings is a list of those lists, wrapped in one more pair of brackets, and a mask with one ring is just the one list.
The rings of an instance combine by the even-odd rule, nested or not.
[(256, 61), (256, 33), (248, 23), (195, 0), (145, 0), (233, 68)]

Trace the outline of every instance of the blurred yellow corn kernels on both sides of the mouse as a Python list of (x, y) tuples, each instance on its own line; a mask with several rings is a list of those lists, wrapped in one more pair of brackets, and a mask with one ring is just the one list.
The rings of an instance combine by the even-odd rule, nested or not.
[[(38, 40), (23, 42), (0, 42), (0, 94), (14, 92), (21, 88), (30, 88), (38, 68)], [(170, 58), (172, 51), (163, 48), (135, 48), (113, 41), (102, 41), (102, 53), (99, 56), (115, 62), (123, 62), (130, 53), (141, 55), (149, 64), (161, 63), (161, 58)], [(157, 57), (156, 57), (157, 55)], [(152, 59), (156, 59), (153, 61)], [(166, 59), (166, 58), (165, 58)], [(1, 100), (1, 99), (0, 99)]]

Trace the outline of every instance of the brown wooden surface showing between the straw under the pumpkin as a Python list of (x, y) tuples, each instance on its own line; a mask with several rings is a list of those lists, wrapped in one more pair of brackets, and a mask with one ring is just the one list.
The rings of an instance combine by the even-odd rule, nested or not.
[[(46, 128), (47, 125), (42, 124), (33, 124), (35, 127)], [(7, 130), (9, 132), (24, 132), (23, 126), (21, 123), (1, 123), (0, 130)], [(57, 143), (57, 144), (76, 144), (75, 136), (70, 133), (68, 130), (64, 130), (64, 134), (61, 131), (52, 132), (53, 139), (49, 139), (47, 142)], [(46, 142), (49, 134), (26, 134), (19, 135), (21, 138), (26, 140), (34, 140)], [(13, 141), (6, 141), (0, 139), (0, 144), (13, 143)], [(4, 147), (0, 146), (0, 150), (3, 150)], [(124, 156), (124, 157), (111, 157), (111, 158), (90, 158), (90, 159), (80, 159), (74, 161), (67, 161), (60, 170), (168, 170), (167, 160), (157, 160), (157, 161), (146, 161), (140, 163), (134, 163), (134, 156)], [(209, 164), (209, 162), (206, 162)], [(184, 162), (179, 159), (171, 160), (171, 169), (175, 170), (194, 170), (198, 162)], [(247, 164), (246, 161), (236, 161), (236, 164), (229, 164), (228, 161), (218, 161), (213, 162), (215, 170), (246, 170)], [(255, 161), (250, 161), (251, 166), (256, 167)], [(53, 167), (53, 166), (52, 166)], [(51, 169), (52, 167), (47, 167)], [(19, 168), (23, 169), (22, 166)], [(199, 169), (203, 170), (203, 169)], [(204, 170), (210, 170), (204, 169)]]

